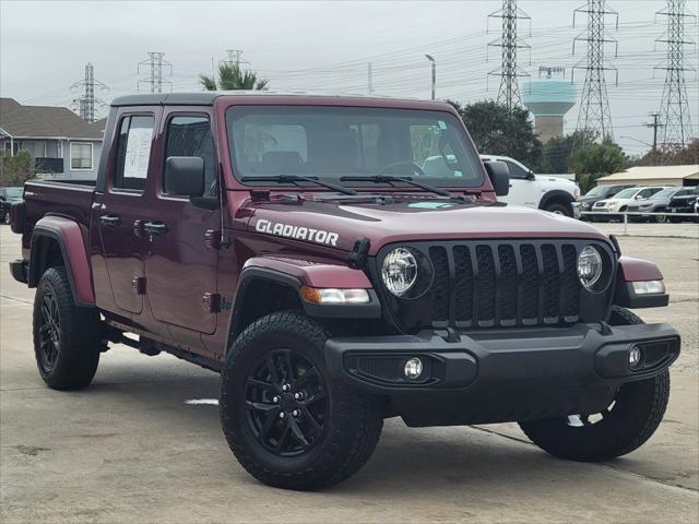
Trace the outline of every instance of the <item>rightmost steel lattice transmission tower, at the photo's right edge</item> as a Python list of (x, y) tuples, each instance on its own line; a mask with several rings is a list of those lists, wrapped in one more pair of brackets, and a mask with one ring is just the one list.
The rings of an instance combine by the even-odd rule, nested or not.
[(692, 136), (685, 71), (694, 69), (685, 67), (684, 47), (686, 44), (694, 44), (690, 39), (685, 39), (685, 17), (694, 15), (686, 12), (686, 0), (667, 0), (665, 11), (657, 12), (667, 16), (667, 29), (655, 40), (667, 47), (666, 63), (655, 68), (666, 71), (660, 107), (665, 126), (662, 143), (673, 147), (684, 147)]

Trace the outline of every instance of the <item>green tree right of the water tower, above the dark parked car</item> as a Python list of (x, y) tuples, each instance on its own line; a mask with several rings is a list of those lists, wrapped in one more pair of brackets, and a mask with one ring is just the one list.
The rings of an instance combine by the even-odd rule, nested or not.
[(627, 165), (628, 157), (624, 150), (611, 140), (576, 148), (569, 163), (570, 169), (578, 177), (578, 184), (583, 193), (594, 187), (597, 178), (618, 172)]

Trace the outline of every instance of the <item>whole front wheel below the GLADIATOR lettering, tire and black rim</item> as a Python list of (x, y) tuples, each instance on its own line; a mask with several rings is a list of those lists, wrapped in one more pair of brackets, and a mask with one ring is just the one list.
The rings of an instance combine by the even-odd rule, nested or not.
[(270, 486), (311, 490), (340, 483), (381, 434), (376, 398), (331, 380), (328, 334), (295, 311), (259, 319), (236, 340), (221, 377), (221, 421), (240, 464)]

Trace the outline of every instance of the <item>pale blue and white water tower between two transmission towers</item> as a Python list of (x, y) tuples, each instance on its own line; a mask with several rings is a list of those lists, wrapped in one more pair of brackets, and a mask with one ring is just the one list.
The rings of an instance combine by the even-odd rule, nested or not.
[(541, 67), (538, 79), (524, 83), (522, 100), (534, 115), (538, 140), (546, 143), (564, 135), (564, 116), (576, 105), (577, 96), (576, 84), (566, 80), (564, 68)]

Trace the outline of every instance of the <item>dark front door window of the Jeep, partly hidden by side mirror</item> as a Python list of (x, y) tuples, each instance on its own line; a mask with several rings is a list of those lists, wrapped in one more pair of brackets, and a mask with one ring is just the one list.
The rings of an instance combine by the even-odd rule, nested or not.
[[(176, 116), (166, 131), (165, 158), (168, 156), (199, 156), (204, 160), (204, 195), (215, 196), (218, 191), (214, 166), (214, 142), (209, 117), (200, 115)], [(163, 184), (163, 194), (167, 194)]]

